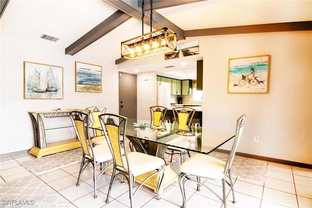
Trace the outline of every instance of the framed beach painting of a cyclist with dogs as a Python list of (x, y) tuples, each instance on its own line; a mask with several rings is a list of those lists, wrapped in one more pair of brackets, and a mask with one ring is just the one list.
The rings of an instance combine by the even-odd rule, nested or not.
[(262, 93), (269, 88), (270, 55), (229, 59), (228, 93)]

